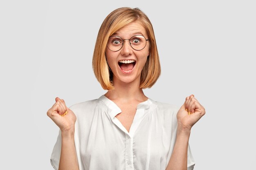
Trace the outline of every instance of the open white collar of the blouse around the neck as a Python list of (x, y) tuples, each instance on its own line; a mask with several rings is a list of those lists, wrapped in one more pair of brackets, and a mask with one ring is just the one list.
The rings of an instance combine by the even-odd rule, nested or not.
[[(113, 119), (117, 114), (121, 113), (121, 109), (108, 97), (102, 95), (99, 99), (108, 107), (108, 114), (110, 115), (111, 119)], [(137, 109), (148, 109), (152, 100), (148, 98), (146, 101), (141, 102), (138, 104)]]

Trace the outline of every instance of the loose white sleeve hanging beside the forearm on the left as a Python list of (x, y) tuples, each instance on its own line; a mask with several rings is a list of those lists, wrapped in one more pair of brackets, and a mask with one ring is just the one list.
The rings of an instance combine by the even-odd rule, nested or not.
[(61, 130), (59, 130), (57, 141), (54, 145), (54, 148), (52, 150), (52, 155), (50, 158), (50, 161), (54, 170), (58, 170), (60, 157), (61, 157)]

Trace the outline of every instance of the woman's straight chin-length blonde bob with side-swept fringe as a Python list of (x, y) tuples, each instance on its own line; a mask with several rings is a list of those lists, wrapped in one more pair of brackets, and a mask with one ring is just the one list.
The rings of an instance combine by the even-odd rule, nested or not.
[(92, 58), (94, 74), (104, 90), (114, 89), (113, 73), (108, 66), (105, 55), (108, 38), (122, 27), (135, 21), (139, 21), (145, 28), (150, 51), (146, 64), (141, 71), (139, 88), (152, 87), (161, 73), (155, 34), (150, 20), (139, 8), (118, 8), (112, 11), (101, 24)]

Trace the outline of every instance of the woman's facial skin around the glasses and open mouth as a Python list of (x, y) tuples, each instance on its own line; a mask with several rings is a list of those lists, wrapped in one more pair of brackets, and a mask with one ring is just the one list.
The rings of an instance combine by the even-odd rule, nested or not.
[[(132, 22), (123, 28), (119, 29), (114, 35), (117, 35), (123, 39), (130, 39), (133, 35), (143, 35), (146, 39), (146, 30), (139, 22)], [(144, 67), (147, 56), (149, 55), (149, 43), (147, 42), (146, 47), (140, 51), (132, 49), (129, 44), (129, 40), (124, 40), (124, 45), (119, 51), (110, 51), (106, 48), (106, 57), (108, 65), (114, 74), (115, 86), (118, 83), (130, 84), (137, 82), (140, 79), (142, 68)], [(118, 61), (120, 60), (135, 60), (135, 68), (132, 73), (122, 73)], [(116, 87), (115, 87), (116, 88)]]

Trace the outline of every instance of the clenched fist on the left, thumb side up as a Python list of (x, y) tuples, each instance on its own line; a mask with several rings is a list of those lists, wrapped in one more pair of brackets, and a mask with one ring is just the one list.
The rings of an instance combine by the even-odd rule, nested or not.
[[(47, 111), (47, 116), (54, 121), (62, 132), (74, 132), (76, 115), (72, 110), (67, 108), (63, 99), (56, 97), (55, 101), (56, 103)], [(63, 115), (66, 111), (67, 113)]]

